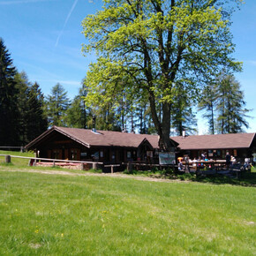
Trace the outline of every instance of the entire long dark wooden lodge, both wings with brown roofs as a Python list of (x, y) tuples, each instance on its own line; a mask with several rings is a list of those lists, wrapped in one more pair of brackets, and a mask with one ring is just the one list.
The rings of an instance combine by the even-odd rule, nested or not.
[[(191, 135), (170, 138), (176, 156), (188, 154), (199, 159), (225, 159), (227, 151), (238, 161), (256, 153), (255, 133)], [(158, 163), (158, 136), (127, 132), (92, 131), (53, 126), (26, 145), (37, 157), (115, 164), (122, 162)]]

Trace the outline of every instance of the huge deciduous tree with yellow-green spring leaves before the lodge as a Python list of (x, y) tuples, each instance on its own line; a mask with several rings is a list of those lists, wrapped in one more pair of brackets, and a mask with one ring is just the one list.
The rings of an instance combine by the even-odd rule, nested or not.
[[(98, 55), (87, 72), (92, 102), (118, 102), (122, 92), (149, 102), (162, 150), (170, 149), (170, 114), (177, 85), (196, 94), (219, 70), (239, 70), (230, 56), (230, 10), (221, 0), (104, 0), (83, 20)], [(228, 1), (235, 4), (240, 1)], [(159, 108), (161, 104), (161, 108)], [(160, 111), (158, 109), (161, 109)]]

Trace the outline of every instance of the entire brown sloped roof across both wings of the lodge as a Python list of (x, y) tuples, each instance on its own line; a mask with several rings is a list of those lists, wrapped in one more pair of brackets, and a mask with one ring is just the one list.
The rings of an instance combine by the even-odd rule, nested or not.
[[(139, 147), (147, 139), (153, 148), (158, 148), (158, 136), (149, 134), (134, 134), (126, 132), (97, 131), (87, 129), (67, 128), (53, 126), (43, 132), (38, 138), (26, 145), (26, 148), (33, 148), (41, 139), (47, 138), (51, 132), (60, 132), (70, 139), (77, 141), (85, 147)], [(170, 139), (178, 145), (181, 150), (197, 149), (229, 149), (249, 148), (252, 145), (256, 133), (231, 133), (215, 135), (191, 135), (177, 136)]]

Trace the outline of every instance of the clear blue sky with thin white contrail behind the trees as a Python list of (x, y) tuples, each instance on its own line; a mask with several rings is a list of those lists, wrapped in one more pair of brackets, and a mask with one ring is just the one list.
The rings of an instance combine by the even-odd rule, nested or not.
[[(94, 56), (82, 56), (81, 21), (102, 7), (101, 0), (0, 0), (0, 37), (11, 53), (13, 64), (28, 79), (37, 81), (44, 94), (60, 83), (72, 98), (79, 92), (88, 64)], [(256, 132), (256, 1), (245, 0), (233, 15), (231, 31), (237, 45), (234, 57), (244, 63), (236, 78), (245, 93), (248, 119)], [(199, 116), (200, 117), (200, 116)], [(199, 120), (200, 133), (207, 132)]]

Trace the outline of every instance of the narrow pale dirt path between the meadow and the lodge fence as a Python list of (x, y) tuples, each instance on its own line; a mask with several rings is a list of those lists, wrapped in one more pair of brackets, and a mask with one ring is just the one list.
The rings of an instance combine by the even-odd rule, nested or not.
[(31, 172), (31, 173), (41, 173), (41, 174), (49, 174), (49, 175), (65, 175), (65, 176), (78, 176), (78, 177), (87, 177), (87, 176), (94, 176), (94, 177), (119, 177), (119, 178), (132, 178), (135, 180), (142, 180), (142, 181), (153, 181), (153, 182), (165, 182), (165, 183), (174, 183), (174, 182), (183, 182), (188, 183), (189, 181), (181, 181), (181, 180), (171, 180), (171, 179), (164, 179), (164, 178), (155, 178), (155, 177), (141, 177), (141, 176), (132, 176), (126, 175), (124, 173), (92, 173), (92, 172), (85, 172), (85, 173), (75, 173), (71, 171), (64, 171), (64, 170), (43, 170), (43, 169), (0, 169), (1, 171), (11, 171), (11, 172)]

